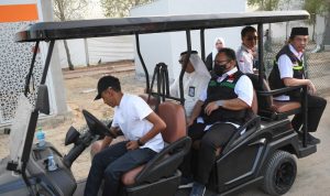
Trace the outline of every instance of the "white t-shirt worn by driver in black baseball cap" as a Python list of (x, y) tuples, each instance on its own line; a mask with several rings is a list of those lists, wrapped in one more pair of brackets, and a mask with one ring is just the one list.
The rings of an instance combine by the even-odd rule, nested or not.
[[(152, 112), (153, 110), (142, 98), (124, 94), (119, 106), (114, 107), (112, 127), (119, 127), (128, 140), (138, 140), (153, 128), (153, 124), (145, 119)], [(140, 148), (160, 152), (164, 148), (161, 133)]]

